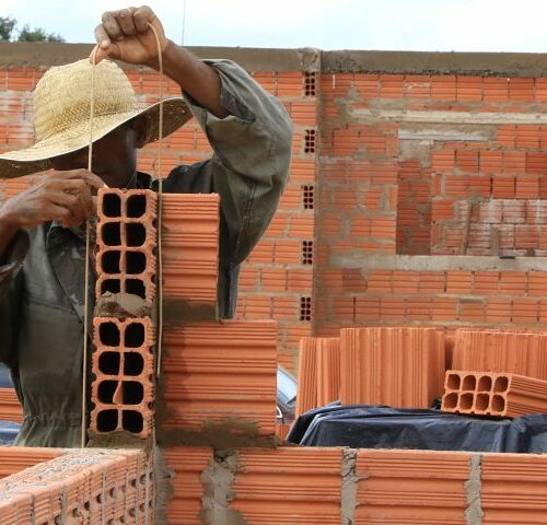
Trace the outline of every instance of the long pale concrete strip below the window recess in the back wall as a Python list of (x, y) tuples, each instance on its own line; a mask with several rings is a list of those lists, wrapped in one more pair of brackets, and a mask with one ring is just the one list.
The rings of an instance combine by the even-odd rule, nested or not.
[(470, 255), (381, 255), (354, 250), (333, 254), (330, 264), (336, 268), (368, 270), (492, 270), (492, 271), (547, 271), (547, 257), (501, 258)]

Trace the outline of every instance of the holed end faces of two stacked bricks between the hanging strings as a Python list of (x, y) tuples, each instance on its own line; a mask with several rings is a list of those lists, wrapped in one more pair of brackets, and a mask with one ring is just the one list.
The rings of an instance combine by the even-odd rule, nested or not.
[[(148, 315), (93, 319), (90, 434), (151, 435), (154, 398), (156, 194), (102, 189), (97, 202), (96, 300), (105, 293), (148, 302)], [(133, 314), (136, 315), (136, 314)]]

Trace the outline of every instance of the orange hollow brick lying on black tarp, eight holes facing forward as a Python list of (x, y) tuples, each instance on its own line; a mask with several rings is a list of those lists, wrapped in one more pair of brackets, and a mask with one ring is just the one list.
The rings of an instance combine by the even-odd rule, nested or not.
[(449, 370), (441, 410), (516, 418), (547, 412), (547, 381), (516, 374)]

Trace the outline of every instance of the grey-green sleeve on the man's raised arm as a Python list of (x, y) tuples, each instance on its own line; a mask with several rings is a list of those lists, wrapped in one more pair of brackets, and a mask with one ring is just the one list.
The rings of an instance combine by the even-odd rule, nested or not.
[(218, 118), (186, 95), (214, 151), (205, 166), (220, 194), (230, 265), (241, 264), (268, 226), (289, 178), (293, 127), (278, 98), (230, 60), (206, 60), (221, 80)]

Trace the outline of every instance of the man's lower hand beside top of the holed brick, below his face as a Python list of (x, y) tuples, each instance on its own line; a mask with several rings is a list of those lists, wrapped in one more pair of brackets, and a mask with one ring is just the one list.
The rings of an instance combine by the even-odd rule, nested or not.
[(8, 199), (0, 208), (0, 221), (13, 230), (36, 228), (58, 221), (65, 228), (79, 226), (95, 213), (90, 189), (104, 183), (86, 170), (51, 171), (25, 191)]

